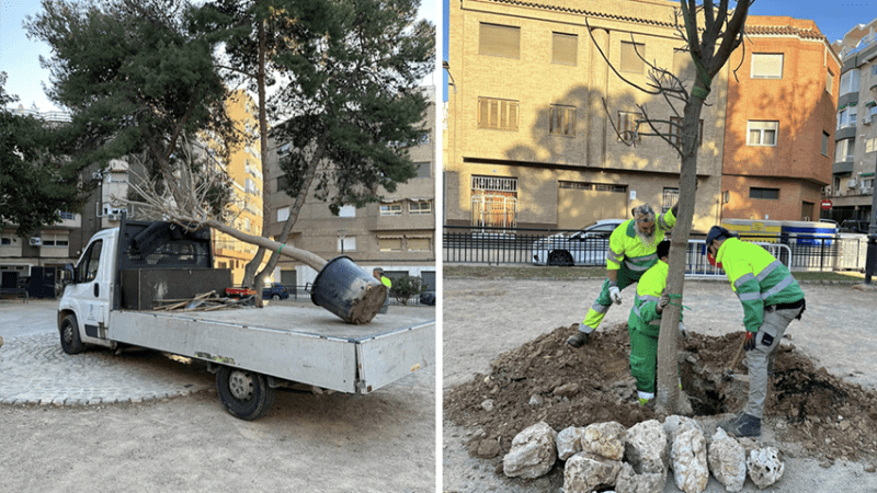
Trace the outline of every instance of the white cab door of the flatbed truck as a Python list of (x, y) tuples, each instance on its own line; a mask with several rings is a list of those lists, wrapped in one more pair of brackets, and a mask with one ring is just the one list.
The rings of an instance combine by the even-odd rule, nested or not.
[(78, 306), (80, 334), (84, 332), (82, 340), (86, 342), (90, 337), (104, 339), (106, 334), (112, 299), (112, 249), (105, 240), (110, 239), (95, 239), (89, 244), (77, 265), (77, 278), (72, 285), (71, 297)]

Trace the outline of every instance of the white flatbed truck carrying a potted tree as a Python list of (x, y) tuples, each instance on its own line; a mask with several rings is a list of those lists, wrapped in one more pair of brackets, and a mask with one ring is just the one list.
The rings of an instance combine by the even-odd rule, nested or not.
[(369, 393), (434, 364), (431, 317), (387, 313), (353, 325), (317, 307), (155, 309), (155, 301), (231, 286), (230, 271), (210, 268), (209, 245), (208, 232), (166, 222), (123, 220), (95, 233), (77, 265), (66, 267), (62, 349), (137, 346), (206, 362), (220, 402), (242, 420), (263, 415), (278, 387)]

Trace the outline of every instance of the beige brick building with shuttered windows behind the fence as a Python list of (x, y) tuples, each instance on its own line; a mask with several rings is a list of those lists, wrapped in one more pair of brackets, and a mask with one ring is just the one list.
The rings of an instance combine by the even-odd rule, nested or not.
[[(674, 148), (657, 136), (629, 147), (615, 128), (633, 130), (638, 105), (652, 119), (673, 116), (663, 98), (619, 77), (646, 88), (642, 58), (691, 88), (691, 56), (674, 50), (684, 46), (677, 5), (451, 2), (445, 223), (571, 229), (627, 218), (643, 203), (658, 211), (674, 204)], [(719, 220), (727, 79), (726, 66), (702, 112), (694, 230)]]

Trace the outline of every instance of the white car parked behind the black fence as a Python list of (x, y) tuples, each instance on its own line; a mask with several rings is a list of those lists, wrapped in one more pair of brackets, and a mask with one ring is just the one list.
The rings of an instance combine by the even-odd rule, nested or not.
[(625, 219), (601, 219), (573, 233), (558, 233), (533, 242), (536, 265), (601, 265), (606, 260), (610, 234)]

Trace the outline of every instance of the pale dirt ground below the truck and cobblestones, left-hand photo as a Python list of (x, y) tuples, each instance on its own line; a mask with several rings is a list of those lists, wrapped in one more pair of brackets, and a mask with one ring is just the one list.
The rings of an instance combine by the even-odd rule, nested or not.
[[(54, 305), (29, 305), (26, 317), (52, 320)], [(0, 320), (29, 305), (0, 307)], [(7, 345), (10, 330), (0, 326)], [(176, 371), (214, 380), (198, 365)], [(432, 493), (435, 375), (424, 368), (368, 395), (278, 392), (253, 422), (226, 413), (215, 390), (111, 405), (0, 404), (0, 491)]]

